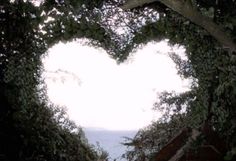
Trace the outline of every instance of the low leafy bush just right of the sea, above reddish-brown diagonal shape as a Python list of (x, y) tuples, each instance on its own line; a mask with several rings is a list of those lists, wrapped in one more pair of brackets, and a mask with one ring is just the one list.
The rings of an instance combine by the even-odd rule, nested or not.
[(153, 122), (139, 130), (134, 138), (126, 138), (123, 144), (129, 149), (123, 157), (136, 161), (152, 160), (153, 156), (186, 126), (188, 122), (183, 114), (172, 115), (168, 122), (163, 120)]

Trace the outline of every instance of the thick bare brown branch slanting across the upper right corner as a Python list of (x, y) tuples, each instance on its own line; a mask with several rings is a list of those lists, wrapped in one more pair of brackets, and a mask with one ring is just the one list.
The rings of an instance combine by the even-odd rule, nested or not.
[[(154, 1), (157, 0), (128, 0), (123, 6), (121, 6), (121, 8), (124, 10), (132, 9)], [(236, 44), (233, 42), (230, 36), (224, 32), (223, 28), (214, 23), (210, 18), (199, 13), (189, 0), (159, 1), (185, 18), (189, 19), (196, 25), (204, 28), (210, 33), (212, 37), (222, 44), (223, 48), (229, 49), (231, 52), (236, 52)]]

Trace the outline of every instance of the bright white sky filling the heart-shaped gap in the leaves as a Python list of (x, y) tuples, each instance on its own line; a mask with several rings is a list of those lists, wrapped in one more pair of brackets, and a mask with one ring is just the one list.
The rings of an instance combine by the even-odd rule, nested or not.
[(160, 116), (152, 110), (157, 92), (187, 89), (166, 54), (170, 51), (166, 42), (149, 43), (132, 61), (118, 65), (101, 49), (59, 43), (43, 60), (49, 99), (66, 106), (82, 127), (142, 128)]

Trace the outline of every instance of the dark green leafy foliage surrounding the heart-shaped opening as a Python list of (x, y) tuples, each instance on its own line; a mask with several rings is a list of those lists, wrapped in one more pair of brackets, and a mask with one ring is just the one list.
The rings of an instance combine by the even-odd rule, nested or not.
[[(222, 26), (236, 40), (236, 2), (195, 0), (196, 9)], [(182, 94), (164, 92), (155, 108), (164, 117), (140, 130), (126, 145), (129, 160), (151, 159), (182, 127), (198, 127), (210, 120), (229, 147), (236, 147), (235, 55), (189, 19), (160, 2), (123, 12), (123, 0), (31, 0), (0, 2), (0, 157), (9, 161), (96, 160), (81, 129), (45, 96), (41, 58), (59, 41), (89, 39), (118, 62), (150, 41), (182, 45), (187, 60), (170, 57), (191, 89)], [(106, 153), (104, 153), (106, 154)], [(106, 156), (106, 155), (104, 155)]]

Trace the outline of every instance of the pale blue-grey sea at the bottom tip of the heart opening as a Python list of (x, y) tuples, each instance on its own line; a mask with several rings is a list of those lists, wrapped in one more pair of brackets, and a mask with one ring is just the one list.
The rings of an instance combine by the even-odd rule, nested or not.
[(122, 145), (125, 137), (133, 138), (137, 131), (111, 131), (104, 129), (84, 128), (85, 135), (90, 144), (99, 145), (109, 153), (109, 161), (126, 161), (122, 155), (127, 147)]

